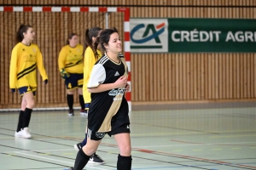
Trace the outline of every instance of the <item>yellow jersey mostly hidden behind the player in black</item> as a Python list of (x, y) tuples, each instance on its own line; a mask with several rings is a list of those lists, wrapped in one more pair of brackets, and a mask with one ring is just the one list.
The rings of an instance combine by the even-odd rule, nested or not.
[(90, 103), (90, 93), (87, 89), (87, 84), (90, 79), (90, 72), (92, 71), (93, 65), (95, 65), (96, 61), (102, 57), (102, 53), (97, 49), (98, 57), (95, 57), (94, 51), (92, 48), (88, 47), (85, 49), (84, 53), (84, 84), (83, 84), (83, 96), (84, 103)]

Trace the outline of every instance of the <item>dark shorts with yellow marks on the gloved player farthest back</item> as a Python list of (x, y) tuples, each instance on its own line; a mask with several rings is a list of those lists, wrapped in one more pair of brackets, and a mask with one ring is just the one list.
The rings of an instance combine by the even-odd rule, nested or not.
[(82, 74), (69, 73), (69, 75), (70, 77), (65, 79), (65, 85), (67, 89), (83, 88), (84, 73)]

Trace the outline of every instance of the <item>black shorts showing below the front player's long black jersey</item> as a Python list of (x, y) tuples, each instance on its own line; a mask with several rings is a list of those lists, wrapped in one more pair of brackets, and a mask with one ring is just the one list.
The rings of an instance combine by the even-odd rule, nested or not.
[(108, 133), (98, 133), (98, 132), (91, 131), (89, 128), (87, 129), (87, 137), (91, 140), (101, 140), (104, 138), (105, 134), (112, 136), (119, 133), (131, 133), (130, 125), (123, 124), (120, 127), (117, 127)]

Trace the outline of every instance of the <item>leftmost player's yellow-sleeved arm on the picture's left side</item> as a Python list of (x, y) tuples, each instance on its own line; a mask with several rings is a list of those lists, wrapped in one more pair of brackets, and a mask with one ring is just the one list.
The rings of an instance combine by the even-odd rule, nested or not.
[(17, 62), (18, 62), (18, 52), (17, 52), (17, 48), (14, 48), (12, 51), (10, 66), (9, 66), (9, 88), (16, 88)]

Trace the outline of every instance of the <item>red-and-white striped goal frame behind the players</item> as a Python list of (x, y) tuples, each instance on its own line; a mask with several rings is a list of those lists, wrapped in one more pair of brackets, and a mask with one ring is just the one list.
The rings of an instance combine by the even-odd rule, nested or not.
[[(19, 12), (19, 13), (26, 13), (26, 12), (32, 12), (32, 13), (106, 13), (106, 27), (108, 26), (108, 17), (107, 14), (112, 14), (112, 13), (123, 13), (124, 16), (124, 37), (122, 38), (124, 40), (124, 52), (123, 54), (125, 55), (125, 60), (126, 64), (128, 66), (129, 70), (129, 78), (128, 78), (128, 83), (131, 85), (131, 54), (130, 54), (130, 8), (122, 8), (122, 7), (67, 7), (67, 6), (61, 6), (61, 7), (54, 7), (54, 6), (45, 6), (45, 7), (38, 7), (38, 6), (22, 6), (22, 7), (16, 7), (16, 6), (0, 6), (0, 13), (7, 12), (7, 13), (12, 13), (12, 12)], [(21, 24), (21, 23), (20, 23)], [(3, 27), (1, 29), (4, 29)], [(40, 28), (42, 29), (42, 28)], [(85, 31), (85, 30), (84, 30)], [(45, 35), (47, 36), (47, 35)], [(84, 36), (84, 35), (83, 35)], [(61, 49), (59, 49), (61, 50)], [(44, 54), (43, 54), (44, 55)], [(3, 56), (2, 56), (3, 57)], [(4, 56), (6, 57), (6, 56)], [(56, 61), (57, 62), (57, 61)], [(9, 67), (9, 65), (8, 65)], [(9, 71), (5, 69), (4, 74), (9, 74)], [(5, 75), (5, 77), (8, 77)], [(50, 77), (49, 77), (50, 78)], [(8, 83), (8, 86), (5, 84), (5, 89), (4, 91), (9, 92), (9, 81), (6, 82), (7, 79), (5, 79), (4, 83)], [(50, 80), (49, 80), (50, 81)], [(3, 82), (2, 82), (3, 83)], [(7, 95), (8, 93), (5, 93)], [(40, 92), (38, 92), (40, 94)], [(6, 97), (6, 96), (5, 96)], [(131, 111), (131, 92), (128, 92), (125, 94), (125, 98), (128, 101), (129, 105), (129, 111)], [(2, 100), (2, 99), (1, 99)], [(2, 102), (2, 101), (1, 101)], [(1, 103), (0, 105), (7, 104), (8, 101), (5, 101), (5, 103)], [(47, 105), (47, 104), (46, 104)], [(35, 108), (34, 110), (38, 111), (46, 111), (46, 110), (63, 110), (63, 107), (55, 107), (55, 108), (46, 108), (46, 107), (39, 107)], [(0, 111), (12, 111), (12, 110), (17, 110), (17, 109), (9, 109), (9, 108), (0, 108)]]

